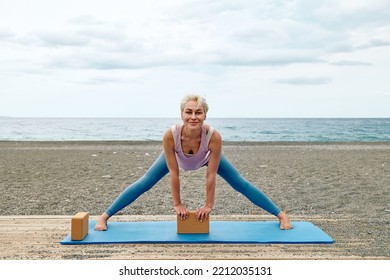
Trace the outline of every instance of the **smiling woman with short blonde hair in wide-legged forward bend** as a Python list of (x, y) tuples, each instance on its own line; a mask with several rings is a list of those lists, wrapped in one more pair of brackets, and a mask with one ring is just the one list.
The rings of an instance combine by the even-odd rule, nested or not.
[(280, 229), (291, 229), (287, 215), (257, 187), (244, 179), (222, 154), (221, 135), (211, 126), (205, 125), (208, 105), (198, 95), (188, 95), (181, 103), (181, 125), (172, 126), (164, 133), (164, 152), (139, 180), (127, 187), (113, 204), (103, 213), (95, 230), (107, 230), (108, 219), (128, 206), (141, 194), (152, 188), (169, 173), (174, 209), (180, 219), (186, 219), (189, 210), (180, 198), (179, 168), (196, 170), (207, 166), (206, 201), (196, 212), (200, 221), (209, 218), (214, 206), (216, 175), (220, 175), (235, 190), (250, 201), (279, 219)]

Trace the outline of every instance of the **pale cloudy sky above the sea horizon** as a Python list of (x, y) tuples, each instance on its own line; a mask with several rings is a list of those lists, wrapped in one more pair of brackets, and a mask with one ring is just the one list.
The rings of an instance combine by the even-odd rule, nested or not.
[(390, 117), (388, 0), (0, 0), (0, 116)]

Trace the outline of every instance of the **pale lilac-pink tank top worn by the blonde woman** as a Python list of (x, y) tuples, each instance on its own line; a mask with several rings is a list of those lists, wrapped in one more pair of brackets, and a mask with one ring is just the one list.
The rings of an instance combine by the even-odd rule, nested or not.
[[(180, 168), (184, 170), (196, 170), (203, 166), (206, 166), (209, 163), (209, 158), (210, 158), (208, 143), (210, 141), (211, 134), (213, 133), (214, 130), (212, 129), (212, 127), (210, 127), (209, 133), (206, 133), (206, 127), (203, 126), (201, 140), (200, 140), (200, 147), (198, 152), (194, 155), (185, 155), (181, 147), (182, 127), (183, 124), (177, 127), (174, 126), (172, 128), (172, 133), (175, 140), (175, 155), (176, 155), (177, 163), (179, 164)], [(174, 133), (174, 129), (176, 130), (176, 133)]]

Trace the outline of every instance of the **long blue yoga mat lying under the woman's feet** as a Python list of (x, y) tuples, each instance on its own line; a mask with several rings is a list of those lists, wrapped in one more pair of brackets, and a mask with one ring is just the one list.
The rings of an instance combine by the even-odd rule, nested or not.
[(107, 231), (95, 231), (96, 221), (82, 241), (67, 235), (64, 245), (112, 243), (292, 243), (325, 244), (334, 240), (310, 222), (293, 222), (292, 230), (280, 230), (277, 221), (210, 221), (209, 234), (177, 234), (176, 221), (109, 222)]

